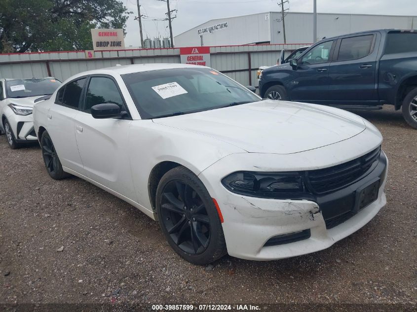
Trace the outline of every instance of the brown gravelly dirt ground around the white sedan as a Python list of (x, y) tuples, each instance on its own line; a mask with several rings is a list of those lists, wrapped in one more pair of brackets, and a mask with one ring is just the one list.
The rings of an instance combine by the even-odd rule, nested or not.
[[(327, 250), (191, 265), (139, 210), (79, 179), (52, 180), (40, 149), (0, 137), (0, 303), (417, 303), (417, 131), (390, 107), (388, 203)], [(61, 246), (63, 251), (57, 251)]]

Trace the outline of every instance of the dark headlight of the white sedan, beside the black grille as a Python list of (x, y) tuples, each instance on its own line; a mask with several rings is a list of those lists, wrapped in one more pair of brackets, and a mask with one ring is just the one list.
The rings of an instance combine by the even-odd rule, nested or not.
[(263, 173), (241, 171), (227, 175), (223, 185), (233, 193), (264, 198), (289, 198), (286, 194), (303, 193), (301, 173)]

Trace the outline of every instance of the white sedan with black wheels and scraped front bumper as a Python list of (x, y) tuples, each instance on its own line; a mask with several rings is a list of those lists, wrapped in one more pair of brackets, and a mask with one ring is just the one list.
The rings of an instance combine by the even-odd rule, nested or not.
[(74, 174), (139, 208), (195, 264), (318, 251), (386, 203), (371, 123), (262, 100), (207, 67), (82, 72), (35, 104), (34, 121), (52, 178)]

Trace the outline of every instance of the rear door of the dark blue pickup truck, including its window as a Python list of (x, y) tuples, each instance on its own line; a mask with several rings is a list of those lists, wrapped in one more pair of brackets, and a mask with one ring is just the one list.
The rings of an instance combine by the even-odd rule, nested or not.
[(377, 101), (379, 33), (346, 36), (338, 40), (329, 67), (329, 104)]

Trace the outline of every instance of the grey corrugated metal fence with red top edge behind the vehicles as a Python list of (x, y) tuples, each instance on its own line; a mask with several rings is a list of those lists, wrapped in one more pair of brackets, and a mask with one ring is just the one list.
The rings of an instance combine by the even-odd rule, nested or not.
[[(256, 71), (271, 66), (282, 49), (287, 53), (302, 44), (217, 46), (210, 48), (211, 67), (225, 72), (243, 85), (258, 85)], [(0, 54), (1, 78), (53, 76), (61, 81), (91, 69), (116, 64), (180, 63), (180, 49), (97, 51), (87, 59), (85, 51)]]

